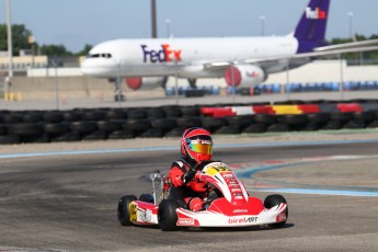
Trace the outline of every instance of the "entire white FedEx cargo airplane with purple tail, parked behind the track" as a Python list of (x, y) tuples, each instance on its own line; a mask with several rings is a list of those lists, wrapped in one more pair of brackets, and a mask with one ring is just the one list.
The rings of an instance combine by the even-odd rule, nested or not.
[(94, 46), (83, 75), (125, 78), (131, 89), (167, 77), (225, 78), (231, 87), (253, 87), (270, 73), (305, 65), (314, 57), (377, 49), (377, 41), (327, 46), (330, 0), (310, 0), (293, 34), (272, 37), (115, 39)]

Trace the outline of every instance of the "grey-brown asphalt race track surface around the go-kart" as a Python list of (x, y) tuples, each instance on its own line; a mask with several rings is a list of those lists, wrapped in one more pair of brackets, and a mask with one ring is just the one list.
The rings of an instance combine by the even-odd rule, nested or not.
[(177, 158), (174, 146), (137, 141), (119, 151), (0, 156), (0, 251), (377, 251), (378, 140), (219, 145), (215, 157), (250, 194), (283, 192), (288, 222), (177, 232), (116, 220), (117, 198), (149, 193), (148, 174)]

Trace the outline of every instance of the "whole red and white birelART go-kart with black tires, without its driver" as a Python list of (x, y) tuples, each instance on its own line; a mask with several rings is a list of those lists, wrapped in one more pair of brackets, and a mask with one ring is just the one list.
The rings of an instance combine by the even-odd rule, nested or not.
[(211, 162), (195, 174), (206, 182), (203, 209), (191, 211), (170, 192), (169, 177), (159, 171), (151, 174), (152, 195), (141, 194), (119, 198), (117, 217), (123, 226), (158, 225), (163, 231), (181, 227), (249, 227), (280, 228), (288, 217), (288, 206), (282, 195), (270, 195), (264, 202), (249, 196), (244, 184), (222, 162)]

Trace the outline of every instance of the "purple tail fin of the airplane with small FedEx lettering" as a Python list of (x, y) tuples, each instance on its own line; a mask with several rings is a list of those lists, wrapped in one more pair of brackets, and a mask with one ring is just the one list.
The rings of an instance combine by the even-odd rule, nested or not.
[(325, 45), (325, 27), (330, 0), (310, 0), (294, 36), (298, 39), (298, 51), (312, 51), (314, 47)]

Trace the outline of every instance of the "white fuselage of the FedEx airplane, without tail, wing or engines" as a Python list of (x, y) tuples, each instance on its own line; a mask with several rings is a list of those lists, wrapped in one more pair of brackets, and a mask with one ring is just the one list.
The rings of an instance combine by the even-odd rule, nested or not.
[[(92, 48), (82, 71), (102, 78), (220, 78), (224, 69), (206, 69), (206, 64), (290, 56), (297, 49), (298, 41), (293, 36), (115, 39)], [(275, 64), (265, 71), (272, 73), (284, 67)]]

